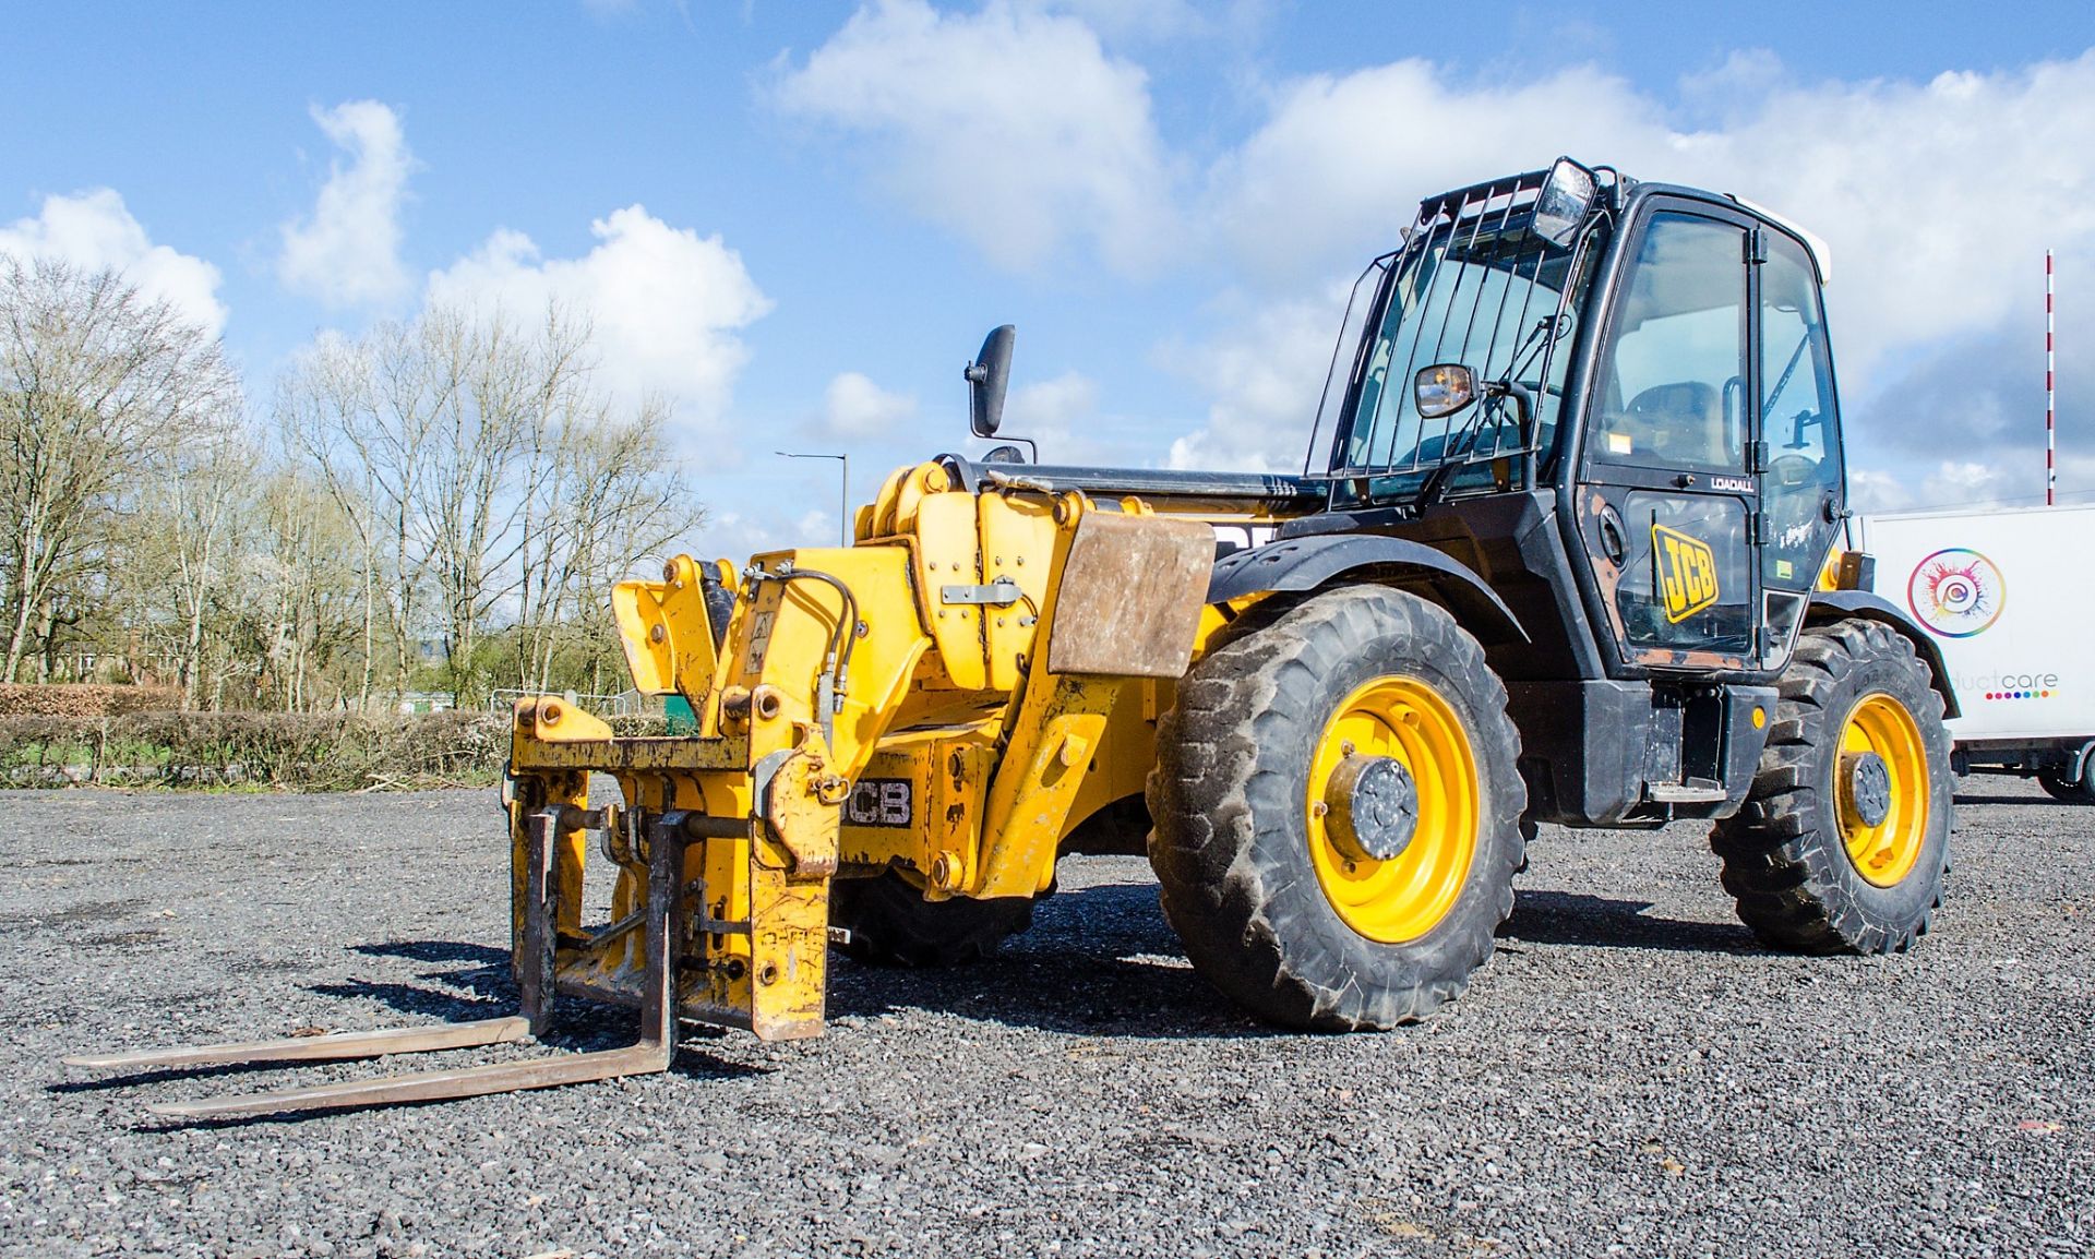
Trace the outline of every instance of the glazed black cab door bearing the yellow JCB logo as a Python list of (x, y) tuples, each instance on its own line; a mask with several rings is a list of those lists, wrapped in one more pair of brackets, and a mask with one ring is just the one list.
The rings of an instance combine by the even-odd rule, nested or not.
[(1749, 670), (1754, 222), (1657, 199), (1634, 230), (1586, 383), (1580, 532), (1624, 664)]

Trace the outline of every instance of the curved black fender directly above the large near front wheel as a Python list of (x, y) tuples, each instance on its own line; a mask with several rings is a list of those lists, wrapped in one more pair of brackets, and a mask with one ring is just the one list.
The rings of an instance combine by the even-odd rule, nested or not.
[(1385, 534), (1316, 534), (1230, 553), (1215, 561), (1209, 603), (1274, 591), (1314, 591), (1337, 576), (1425, 578), (1464, 628), (1485, 643), (1525, 643), (1527, 631), (1467, 564), (1425, 543)]

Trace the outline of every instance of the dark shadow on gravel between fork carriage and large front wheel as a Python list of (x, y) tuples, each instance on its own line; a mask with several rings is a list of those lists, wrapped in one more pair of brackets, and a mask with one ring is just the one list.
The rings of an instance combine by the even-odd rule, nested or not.
[(838, 955), (830, 1014), (939, 1010), (1089, 1037), (1286, 1035), (1223, 1001), (1184, 957), (1156, 884), (1102, 884), (1050, 897), (1031, 930), (972, 966), (897, 970)]

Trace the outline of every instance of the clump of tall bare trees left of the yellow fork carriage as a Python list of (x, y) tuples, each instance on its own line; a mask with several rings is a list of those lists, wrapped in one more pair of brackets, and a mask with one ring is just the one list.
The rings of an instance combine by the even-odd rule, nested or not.
[(396, 691), (427, 639), (459, 704), (497, 670), (549, 685), (564, 622), (601, 618), (612, 580), (698, 524), (666, 406), (599, 390), (591, 335), (557, 306), (438, 306), (323, 339), (281, 381), (277, 427), (356, 536), (362, 656), (392, 643)]

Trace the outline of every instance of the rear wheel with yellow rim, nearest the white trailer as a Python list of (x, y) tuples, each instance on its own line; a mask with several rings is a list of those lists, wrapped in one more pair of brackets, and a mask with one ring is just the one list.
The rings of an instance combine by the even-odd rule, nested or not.
[(1909, 949), (1942, 905), (1948, 765), (1942, 695), (1898, 631), (1804, 631), (1751, 794), (1710, 834), (1739, 918), (1777, 949)]

